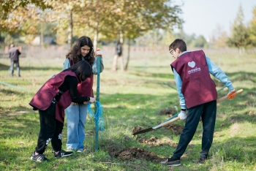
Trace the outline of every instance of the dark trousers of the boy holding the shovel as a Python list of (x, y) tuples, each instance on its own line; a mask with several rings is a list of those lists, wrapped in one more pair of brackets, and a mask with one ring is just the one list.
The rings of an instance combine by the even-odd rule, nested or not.
[(183, 153), (186, 151), (187, 145), (189, 145), (192, 137), (194, 137), (200, 117), (202, 118), (203, 122), (202, 151), (200, 152), (200, 155), (208, 155), (208, 151), (210, 150), (212, 141), (214, 139), (216, 112), (216, 100), (189, 108), (186, 123), (180, 140), (178, 141), (176, 151), (173, 152), (173, 156), (181, 158)]

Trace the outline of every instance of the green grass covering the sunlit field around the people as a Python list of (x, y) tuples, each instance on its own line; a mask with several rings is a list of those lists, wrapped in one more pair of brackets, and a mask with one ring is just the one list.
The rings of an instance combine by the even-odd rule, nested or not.
[[(206, 50), (206, 55), (208, 55)], [(217, 122), (210, 159), (204, 165), (197, 160), (201, 148), (202, 123), (181, 158), (180, 167), (165, 167), (144, 159), (123, 160), (110, 156), (108, 149), (126, 147), (143, 148), (157, 156), (166, 158), (175, 148), (164, 145), (141, 144), (132, 136), (132, 129), (157, 126), (167, 120), (159, 115), (165, 107), (178, 107), (176, 87), (167, 53), (131, 54), (127, 72), (111, 72), (112, 58), (105, 58), (105, 71), (100, 78), (100, 102), (104, 107), (105, 131), (99, 133), (99, 151), (95, 151), (94, 125), (86, 123), (85, 153), (74, 153), (64, 159), (53, 159), (51, 146), (45, 151), (51, 161), (37, 163), (29, 158), (37, 145), (39, 115), (31, 110), (29, 102), (49, 77), (62, 69), (62, 59), (21, 58), (21, 76), (9, 77), (10, 61), (0, 58), (1, 82), (23, 88), (26, 91), (0, 84), (0, 170), (256, 170), (256, 56), (246, 54), (211, 52), (208, 55), (233, 81), (233, 86), (244, 89), (235, 99), (217, 104)], [(221, 60), (220, 60), (221, 59)], [(16, 71), (15, 71), (16, 74)], [(95, 81), (97, 79), (94, 79)], [(217, 83), (217, 90), (222, 83)], [(94, 83), (94, 94), (96, 94)], [(227, 94), (227, 88), (219, 97)], [(184, 121), (176, 121), (184, 125)], [(63, 148), (67, 141), (67, 123), (64, 124)], [(154, 130), (140, 137), (160, 140), (170, 139), (177, 143), (179, 135), (165, 128)]]

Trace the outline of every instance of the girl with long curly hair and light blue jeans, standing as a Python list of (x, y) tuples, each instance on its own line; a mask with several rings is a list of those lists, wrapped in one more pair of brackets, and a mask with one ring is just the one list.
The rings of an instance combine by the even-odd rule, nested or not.
[[(102, 57), (100, 50), (97, 55)], [(94, 48), (89, 37), (80, 37), (72, 50), (67, 54), (63, 69), (67, 69), (78, 61), (88, 61), (92, 72), (97, 75), (97, 60), (94, 58)], [(104, 69), (102, 58), (100, 58), (100, 72)], [(91, 74), (86, 80), (78, 83), (79, 96), (93, 96), (92, 86), (94, 75)], [(85, 124), (87, 115), (87, 104), (72, 103), (65, 110), (67, 117), (67, 151), (83, 151), (85, 140)]]

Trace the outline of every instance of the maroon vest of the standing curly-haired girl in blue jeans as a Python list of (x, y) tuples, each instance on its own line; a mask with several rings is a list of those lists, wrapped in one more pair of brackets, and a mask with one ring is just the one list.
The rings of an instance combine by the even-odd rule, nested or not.
[[(70, 66), (74, 64), (74, 61), (71, 58), (68, 58), (70, 62)], [(91, 77), (86, 78), (86, 80), (78, 83), (78, 95), (79, 96), (91, 96), (93, 97), (93, 90), (92, 86), (94, 83), (94, 75), (92, 74)]]

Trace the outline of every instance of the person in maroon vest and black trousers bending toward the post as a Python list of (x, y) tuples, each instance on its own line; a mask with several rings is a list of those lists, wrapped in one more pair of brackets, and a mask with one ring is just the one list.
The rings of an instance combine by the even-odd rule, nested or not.
[(91, 96), (78, 95), (78, 83), (88, 77), (91, 77), (90, 64), (79, 61), (71, 68), (53, 75), (34, 95), (29, 104), (34, 110), (39, 110), (40, 132), (37, 147), (31, 156), (32, 160), (48, 161), (43, 153), (50, 142), (56, 158), (72, 155), (72, 152), (61, 149), (64, 110), (71, 102), (78, 104), (95, 102)]

